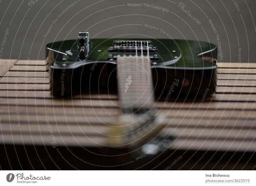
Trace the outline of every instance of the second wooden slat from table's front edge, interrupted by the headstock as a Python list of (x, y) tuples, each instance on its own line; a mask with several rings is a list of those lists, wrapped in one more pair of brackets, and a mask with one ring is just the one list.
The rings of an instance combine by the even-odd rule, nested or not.
[[(50, 123), (49, 123), (50, 124)], [(55, 134), (60, 134), (65, 136), (72, 133), (74, 136), (103, 136), (108, 135), (109, 126), (90, 126), (81, 125), (79, 127), (75, 125), (55, 125), (50, 124), (52, 131)], [(34, 133), (47, 135), (49, 134), (49, 127), (45, 122), (45, 125), (30, 124), (30, 125), (20, 125), (19, 127), (15, 125), (2, 124), (2, 132), (7, 134), (10, 130), (13, 134), (18, 133)], [(40, 131), (40, 133), (39, 133)], [(174, 138), (198, 138), (198, 139), (220, 139), (227, 138), (227, 140), (245, 140), (245, 141), (256, 141), (256, 130), (255, 129), (213, 129), (213, 128), (167, 128), (166, 133), (171, 134)]]

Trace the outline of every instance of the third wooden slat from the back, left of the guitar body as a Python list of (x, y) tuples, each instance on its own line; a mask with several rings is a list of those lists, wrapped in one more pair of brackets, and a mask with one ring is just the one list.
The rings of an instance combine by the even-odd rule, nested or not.
[(4, 77), (49, 77), (48, 72), (24, 72), (24, 71), (9, 71), (4, 74)]

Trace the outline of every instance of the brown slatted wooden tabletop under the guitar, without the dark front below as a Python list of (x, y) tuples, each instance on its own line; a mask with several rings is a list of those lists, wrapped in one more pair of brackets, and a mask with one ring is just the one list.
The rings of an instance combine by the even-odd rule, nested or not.
[[(14, 63), (16, 64), (14, 65)], [(11, 64), (11, 65), (10, 65)], [(117, 95), (54, 98), (45, 61), (3, 60), (0, 70), (1, 144), (102, 147), (118, 117)], [(213, 96), (158, 101), (171, 149), (252, 151), (256, 149), (256, 64), (219, 63)]]

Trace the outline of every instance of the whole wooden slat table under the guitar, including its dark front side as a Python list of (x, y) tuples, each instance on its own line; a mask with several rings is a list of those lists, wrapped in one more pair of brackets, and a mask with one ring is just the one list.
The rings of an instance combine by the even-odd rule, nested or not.
[[(255, 166), (254, 63), (219, 63), (216, 94), (203, 102), (199, 99), (172, 100), (166, 105), (156, 103), (159, 114), (165, 118), (164, 133), (174, 138), (169, 152), (158, 158), (156, 165), (144, 160), (138, 163), (132, 153), (129, 161), (121, 158), (121, 152), (129, 154), (126, 150), (118, 150), (118, 153), (116, 149), (106, 150), (104, 142), (109, 125), (116, 118), (103, 111), (99, 95), (53, 98), (45, 61), (3, 60), (3, 65), (0, 70), (0, 143), (6, 156), (0, 164), (2, 169), (103, 169), (102, 166), (104, 169), (113, 169), (113, 166), (117, 169), (164, 169), (170, 165), (168, 161), (172, 163), (180, 155), (185, 158), (173, 169), (253, 169)], [(117, 115), (117, 96), (100, 97), (107, 112)], [(111, 154), (110, 158), (106, 151), (120, 157)], [(34, 164), (34, 158), (28, 155), (30, 152), (36, 157)], [(81, 152), (88, 161), (81, 160)], [(16, 166), (9, 161), (11, 153)], [(248, 157), (244, 159), (245, 156)], [(97, 164), (99, 159), (103, 163)], [(51, 165), (44, 161), (51, 161)]]

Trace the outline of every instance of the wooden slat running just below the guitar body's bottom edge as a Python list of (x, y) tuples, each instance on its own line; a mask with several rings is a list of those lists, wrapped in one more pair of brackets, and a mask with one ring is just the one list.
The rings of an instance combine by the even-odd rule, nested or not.
[[(253, 95), (253, 97), (251, 96), (251, 99), (248, 100), (248, 102), (246, 102), (246, 98), (247, 96), (246, 95), (243, 95), (243, 98), (245, 98), (244, 100), (243, 99), (239, 99), (239, 96), (240, 95), (236, 95), (236, 94), (233, 94), (234, 96), (236, 97), (233, 97), (233, 96), (230, 96), (230, 95), (226, 95), (225, 97), (223, 96), (223, 99), (220, 100), (220, 103), (219, 103), (219, 99), (216, 99), (215, 101), (212, 101), (212, 102), (207, 102), (207, 101), (204, 101), (203, 105), (201, 105), (201, 109), (203, 108), (226, 108), (226, 109), (241, 109), (242, 107), (244, 107), (244, 105), (246, 105), (245, 107), (247, 109), (254, 109), (255, 108), (255, 99), (253, 99), (253, 97), (255, 98), (255, 95)], [(13, 95), (12, 95), (13, 96)], [(14, 95), (15, 96), (15, 95)], [(217, 97), (216, 97), (217, 98)], [(227, 101), (224, 101), (224, 98), (225, 100)], [(48, 106), (51, 106), (51, 105), (54, 105), (54, 106), (86, 106), (86, 105), (91, 105), (91, 104), (94, 104), (95, 106), (100, 106), (100, 102), (98, 99), (52, 99), (52, 98), (45, 98), (45, 99), (42, 99), (42, 98), (17, 98), (19, 100), (19, 105), (38, 105), (38, 106), (44, 106), (44, 105), (48, 105)], [(230, 99), (230, 101), (229, 101)], [(15, 100), (16, 98), (15, 97), (12, 97), (12, 98), (0, 98), (0, 105), (15, 105)], [(233, 102), (232, 102), (233, 101)], [(246, 102), (246, 103), (245, 103)], [(105, 105), (105, 106), (114, 106), (114, 105), (118, 105), (118, 101), (117, 100), (102, 100), (102, 103)], [(190, 108), (190, 107), (193, 107), (193, 108), (197, 108), (198, 105), (200, 104), (200, 100), (198, 101), (170, 101), (170, 102), (167, 102), (166, 105), (163, 104), (163, 102), (157, 102), (156, 103), (156, 107), (158, 108), (184, 108), (184, 109), (187, 109), (187, 108)]]

